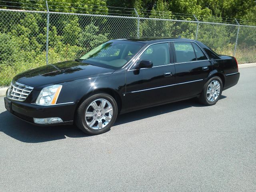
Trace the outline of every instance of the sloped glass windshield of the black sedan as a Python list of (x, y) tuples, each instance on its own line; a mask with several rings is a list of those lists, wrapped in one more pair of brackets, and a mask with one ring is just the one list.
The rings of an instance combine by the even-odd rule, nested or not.
[(116, 70), (122, 68), (144, 45), (140, 42), (111, 40), (92, 49), (80, 60), (83, 63)]

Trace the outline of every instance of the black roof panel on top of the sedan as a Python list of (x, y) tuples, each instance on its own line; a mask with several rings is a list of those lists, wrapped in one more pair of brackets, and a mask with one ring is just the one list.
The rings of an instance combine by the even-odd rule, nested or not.
[(141, 42), (146, 44), (152, 44), (157, 42), (166, 42), (166, 41), (195, 41), (193, 39), (187, 38), (170, 38), (170, 37), (134, 37), (134, 38), (123, 38), (123, 39), (115, 39), (115, 40), (126, 40), (126, 41), (134, 41), (134, 42)]

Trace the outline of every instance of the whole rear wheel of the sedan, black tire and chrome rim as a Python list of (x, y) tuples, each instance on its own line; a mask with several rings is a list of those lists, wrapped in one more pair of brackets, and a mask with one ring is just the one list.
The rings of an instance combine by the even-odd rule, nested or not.
[(208, 106), (215, 105), (220, 99), (222, 90), (223, 84), (221, 78), (214, 76), (204, 84), (204, 89), (199, 97), (199, 101)]

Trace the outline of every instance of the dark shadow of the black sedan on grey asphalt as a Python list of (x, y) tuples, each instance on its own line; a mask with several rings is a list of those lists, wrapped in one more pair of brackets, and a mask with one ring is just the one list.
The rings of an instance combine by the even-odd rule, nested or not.
[[(226, 98), (221, 96), (220, 99)], [(119, 115), (114, 126), (181, 110), (190, 107), (202, 107), (195, 99), (165, 104), (128, 114)], [(52, 140), (88, 137), (74, 125), (63, 126), (35, 126), (14, 117), (10, 112), (4, 111), (0, 114), (0, 132), (25, 143), (40, 143)]]

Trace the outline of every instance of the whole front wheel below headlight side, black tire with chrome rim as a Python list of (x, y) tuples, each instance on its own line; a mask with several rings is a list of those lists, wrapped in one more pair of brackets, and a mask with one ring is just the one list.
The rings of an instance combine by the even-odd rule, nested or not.
[(100, 93), (84, 100), (76, 111), (75, 124), (86, 134), (97, 135), (108, 131), (118, 114), (114, 98)]

